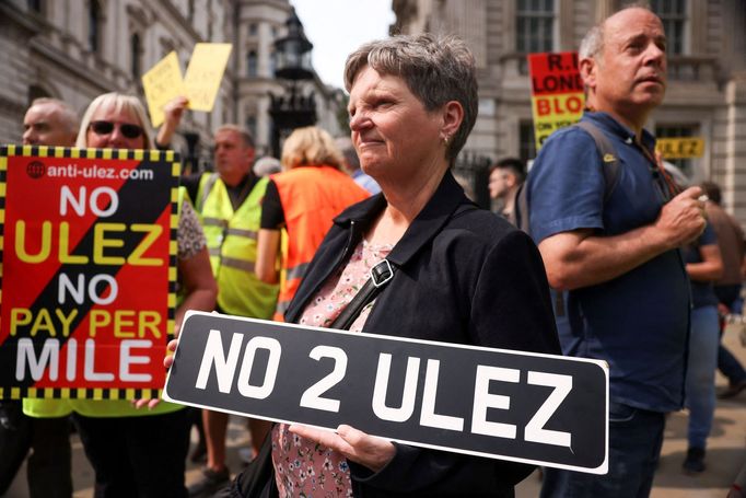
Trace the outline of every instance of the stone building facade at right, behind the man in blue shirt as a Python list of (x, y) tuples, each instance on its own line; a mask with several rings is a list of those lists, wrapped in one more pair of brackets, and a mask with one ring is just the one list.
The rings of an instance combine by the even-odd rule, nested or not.
[[(479, 116), (466, 143), (497, 159), (536, 154), (526, 54), (576, 50), (587, 30), (622, 0), (393, 0), (393, 32), (455, 34), (473, 49)], [(651, 117), (660, 137), (704, 139), (702, 158), (678, 161), (693, 181), (723, 186), (746, 225), (746, 3), (650, 0), (668, 37), (668, 91)]]

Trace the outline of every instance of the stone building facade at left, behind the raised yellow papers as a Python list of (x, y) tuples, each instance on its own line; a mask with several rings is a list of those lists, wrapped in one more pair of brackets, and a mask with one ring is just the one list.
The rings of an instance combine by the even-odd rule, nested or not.
[[(232, 43), (231, 59), (211, 113), (189, 112), (174, 148), (186, 154), (184, 132), (199, 137), (198, 155), (209, 165), (212, 132), (223, 123), (247, 126), (258, 154), (267, 153), (272, 44), (285, 35), (289, 0), (2, 0), (0, 1), (0, 143), (21, 141), (31, 101), (54, 96), (82, 113), (93, 97), (119, 91), (144, 103), (140, 77), (176, 50), (186, 71), (196, 43)], [(339, 91), (317, 76), (313, 92), (317, 125), (339, 134)]]

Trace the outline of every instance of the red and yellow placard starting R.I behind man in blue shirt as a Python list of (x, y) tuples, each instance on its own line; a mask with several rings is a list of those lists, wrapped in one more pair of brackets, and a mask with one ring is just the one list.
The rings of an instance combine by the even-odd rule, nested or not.
[(529, 54), (528, 72), (538, 151), (556, 130), (580, 120), (585, 96), (574, 51)]

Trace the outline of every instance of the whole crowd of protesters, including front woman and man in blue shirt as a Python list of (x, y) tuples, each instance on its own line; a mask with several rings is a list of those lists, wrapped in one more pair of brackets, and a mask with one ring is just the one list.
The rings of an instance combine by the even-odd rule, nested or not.
[[(247, 130), (219, 127), (214, 171), (180, 183), (175, 335), (191, 309), (605, 360), (608, 473), (544, 468), (541, 496), (648, 496), (665, 415), (685, 406), (683, 467), (703, 472), (715, 369), (730, 382), (721, 397), (746, 390), (746, 371), (720, 344), (722, 316), (743, 306), (744, 233), (715, 184), (683, 185), (666, 172), (643, 128), (666, 89), (661, 20), (640, 7), (615, 13), (584, 37), (579, 63), (581, 125), (549, 137), (528, 174), (514, 158), (490, 169), (497, 216), (452, 174), (478, 107), (475, 59), (454, 37), (394, 36), (352, 53), (351, 138), (300, 128), (279, 161), (255, 161)], [(132, 96), (98, 96), (79, 126), (65, 103), (37, 100), (23, 142), (168, 149), (187, 107), (185, 97), (170, 102), (153, 138)], [(518, 217), (528, 233), (513, 225)], [(384, 260), (385, 287), (359, 298)], [(534, 470), (348, 425), (249, 419), (255, 459), (231, 479), (221, 412), (158, 399), (23, 399), (2, 410), (0, 494), (31, 449), (31, 496), (72, 496), (70, 418), (102, 498), (510, 497)], [(187, 488), (193, 425), (191, 458), (205, 452), (206, 465)]]

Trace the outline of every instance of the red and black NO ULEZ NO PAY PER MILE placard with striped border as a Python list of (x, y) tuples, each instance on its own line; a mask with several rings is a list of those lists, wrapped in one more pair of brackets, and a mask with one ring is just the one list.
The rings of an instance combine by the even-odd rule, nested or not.
[(178, 175), (173, 151), (0, 147), (0, 398), (158, 395)]

